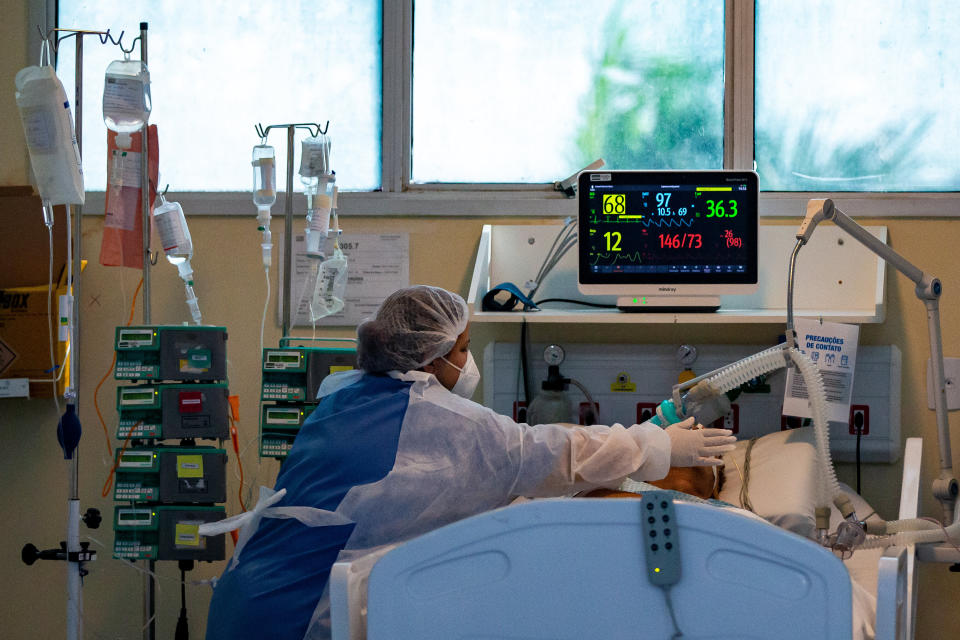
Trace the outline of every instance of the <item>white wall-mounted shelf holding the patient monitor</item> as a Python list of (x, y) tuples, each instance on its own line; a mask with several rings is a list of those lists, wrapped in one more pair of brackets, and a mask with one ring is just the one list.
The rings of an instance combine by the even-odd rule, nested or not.
[[(887, 241), (884, 226), (866, 227)], [(787, 266), (796, 241), (793, 225), (761, 225), (760, 286), (750, 295), (721, 296), (716, 313), (624, 313), (550, 303), (534, 312), (481, 310), (483, 296), (502, 282), (523, 282), (536, 273), (560, 226), (484, 225), (474, 263), (468, 304), (473, 322), (780, 324), (786, 322)], [(794, 291), (796, 317), (833, 322), (884, 320), (886, 263), (833, 225), (821, 225), (800, 251)], [(577, 257), (571, 250), (541, 284), (537, 299), (572, 298), (613, 303), (611, 296), (584, 296), (577, 290)]]

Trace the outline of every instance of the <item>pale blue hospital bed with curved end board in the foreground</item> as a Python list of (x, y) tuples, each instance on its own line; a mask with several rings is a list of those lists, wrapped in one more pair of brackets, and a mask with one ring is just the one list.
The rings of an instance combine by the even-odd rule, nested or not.
[[(920, 451), (910, 438), (900, 518), (916, 516)], [(375, 564), (337, 563), (333, 638), (674, 637), (666, 594), (646, 577), (640, 508), (640, 500), (530, 501), (423, 535)], [(679, 500), (674, 508), (681, 579), (669, 598), (684, 638), (913, 637), (912, 546), (857, 552), (845, 565), (740, 509)]]

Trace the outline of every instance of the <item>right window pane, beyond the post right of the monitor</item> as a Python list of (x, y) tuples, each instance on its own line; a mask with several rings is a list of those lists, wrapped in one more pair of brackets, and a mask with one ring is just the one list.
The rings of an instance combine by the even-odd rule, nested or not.
[(956, 190), (957, 25), (952, 0), (758, 0), (763, 189)]

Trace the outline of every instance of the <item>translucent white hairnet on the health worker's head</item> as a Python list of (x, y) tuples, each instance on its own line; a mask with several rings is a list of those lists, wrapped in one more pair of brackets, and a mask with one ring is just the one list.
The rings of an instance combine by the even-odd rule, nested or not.
[(468, 316), (463, 298), (446, 289), (395, 291), (357, 327), (357, 362), (371, 373), (419, 369), (453, 349)]

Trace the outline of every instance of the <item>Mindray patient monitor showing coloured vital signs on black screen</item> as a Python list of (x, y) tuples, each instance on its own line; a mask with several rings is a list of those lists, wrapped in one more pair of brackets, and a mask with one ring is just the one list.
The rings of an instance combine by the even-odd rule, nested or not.
[(623, 311), (716, 311), (757, 289), (757, 174), (584, 171), (578, 285)]

